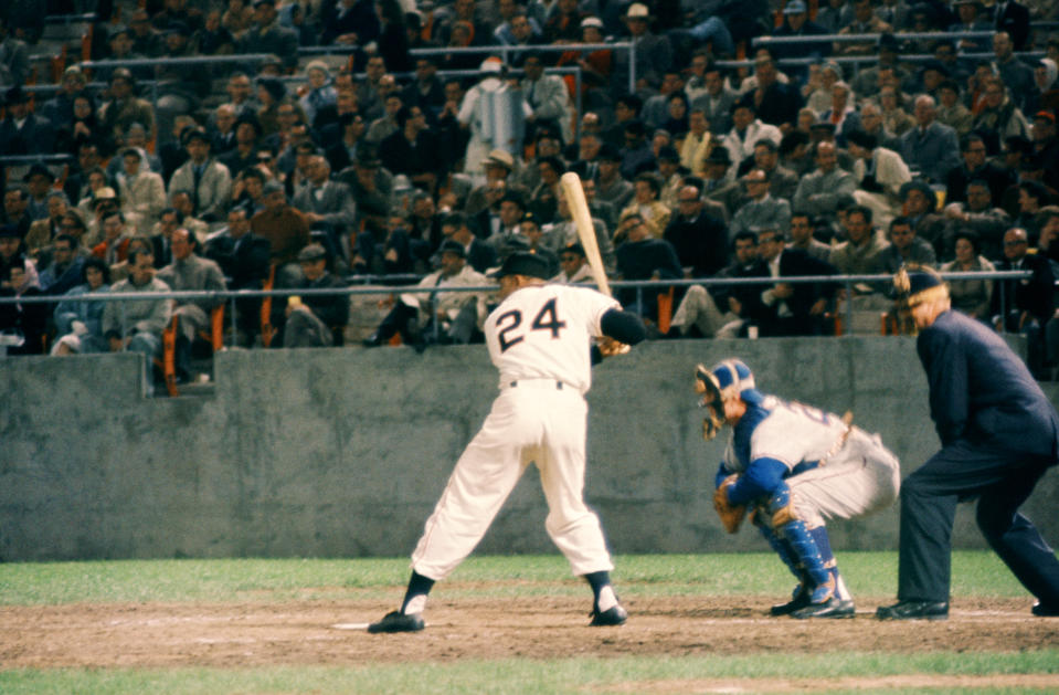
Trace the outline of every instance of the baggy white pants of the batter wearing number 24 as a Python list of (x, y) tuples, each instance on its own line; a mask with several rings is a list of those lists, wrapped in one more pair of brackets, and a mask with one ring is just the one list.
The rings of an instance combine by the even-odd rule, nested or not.
[(444, 579), (474, 550), (530, 462), (548, 499), (544, 527), (573, 573), (614, 569), (600, 519), (584, 504), (584, 398), (554, 379), (515, 383), (493, 402), (426, 520), (412, 554), (424, 577)]

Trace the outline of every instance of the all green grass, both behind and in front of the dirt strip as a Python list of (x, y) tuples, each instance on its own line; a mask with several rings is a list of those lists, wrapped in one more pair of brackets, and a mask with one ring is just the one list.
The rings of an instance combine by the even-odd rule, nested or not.
[[(893, 552), (840, 552), (847, 582), (861, 597), (890, 597), (896, 591)], [(618, 589), (631, 599), (689, 594), (783, 596), (792, 578), (771, 554), (623, 556), (614, 572)], [(3, 606), (55, 606), (124, 602), (286, 602), (385, 599), (400, 596), (409, 572), (398, 559), (221, 559), (128, 560), (0, 565), (0, 630)], [(569, 594), (584, 596), (583, 582), (570, 576), (562, 557), (472, 557), (438, 587), (446, 598)], [(953, 594), (991, 598), (1029, 597), (989, 552), (953, 555)], [(734, 629), (745, 629), (735, 626)], [(570, 657), (550, 661), (505, 659), (452, 663), (373, 664), (361, 666), (274, 666), (266, 668), (57, 668), (4, 670), (0, 654), (0, 693), (591, 693), (619, 684), (669, 682), (666, 692), (681, 692), (681, 682), (760, 678), (739, 687), (767, 691), (769, 680), (873, 677), (899, 674), (981, 676), (965, 688), (907, 686), (871, 692), (1015, 693), (1025, 687), (991, 684), (1000, 674), (1052, 674), (1048, 692), (1059, 692), (1059, 649), (1055, 642), (1012, 645), (1004, 653), (924, 654), (773, 653), (745, 656)], [(1050, 676), (1049, 676), (1050, 677)], [(646, 685), (644, 685), (646, 689)], [(690, 686), (689, 686), (690, 687)], [(828, 691), (835, 693), (838, 691)], [(1045, 692), (1045, 691), (1038, 691)]]

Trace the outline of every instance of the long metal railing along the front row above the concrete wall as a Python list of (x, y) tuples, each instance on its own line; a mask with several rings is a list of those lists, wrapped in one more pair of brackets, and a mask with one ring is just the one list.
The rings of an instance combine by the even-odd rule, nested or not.
[[(994, 272), (967, 272), (967, 273), (941, 273), (945, 280), (1026, 280), (1032, 277), (1030, 271), (994, 271)], [(363, 276), (372, 277), (379, 281), (390, 280), (391, 276)], [(352, 280), (358, 280), (354, 276)], [(745, 285), (774, 285), (777, 282), (788, 284), (819, 283), (828, 285), (841, 285), (846, 291), (847, 297), (855, 295), (854, 287), (858, 284), (869, 284), (879, 287), (889, 286), (893, 276), (890, 274), (872, 275), (806, 275), (797, 277), (699, 277), (690, 280), (642, 280), (642, 281), (614, 281), (611, 283), (615, 292), (621, 289), (635, 289), (636, 303), (643, 305), (644, 292), (648, 289), (668, 289), (670, 287), (689, 287), (691, 285), (713, 286), (745, 286)], [(361, 278), (360, 282), (363, 282)], [(585, 286), (594, 286), (586, 283)], [(227, 319), (232, 328), (232, 335), (235, 335), (237, 324), (236, 303), (240, 299), (261, 298), (261, 297), (289, 297), (289, 296), (329, 296), (349, 295), (393, 295), (393, 294), (441, 294), (441, 293), (495, 293), (498, 286), (496, 284), (474, 285), (463, 287), (437, 287), (434, 285), (420, 287), (416, 285), (401, 286), (364, 286), (352, 285), (347, 287), (329, 288), (289, 288), (289, 289), (225, 289), (210, 292), (123, 292), (123, 293), (98, 293), (76, 296), (66, 295), (36, 295), (29, 297), (0, 297), (0, 306), (4, 304), (59, 304), (60, 302), (144, 302), (148, 299), (174, 299), (179, 302), (189, 301), (210, 301), (215, 304), (227, 303)], [(998, 285), (1000, 305), (1004, 306), (1004, 283)], [(853, 302), (846, 302), (846, 325), (853, 325), (854, 307)], [(123, 334), (126, 333), (128, 320), (123, 307)], [(436, 323), (435, 323), (436, 330)], [(1002, 322), (1000, 331), (1005, 333)]]

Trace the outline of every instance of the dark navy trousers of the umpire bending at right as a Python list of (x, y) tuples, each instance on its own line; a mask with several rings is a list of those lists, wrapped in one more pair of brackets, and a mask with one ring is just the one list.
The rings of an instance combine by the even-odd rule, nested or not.
[(901, 484), (898, 599), (947, 601), (956, 504), (978, 497), (978, 528), (1023, 586), (1059, 606), (1059, 560), (1018, 513), (1051, 457), (956, 440)]

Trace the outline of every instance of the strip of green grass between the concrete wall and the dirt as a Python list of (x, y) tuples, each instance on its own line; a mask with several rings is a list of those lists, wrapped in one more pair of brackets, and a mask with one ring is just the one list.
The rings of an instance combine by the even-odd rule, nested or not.
[[(894, 594), (896, 554), (840, 552), (838, 560), (856, 594)], [(615, 581), (631, 596), (775, 594), (793, 581), (771, 554), (623, 556), (616, 565)], [(0, 565), (0, 606), (373, 599), (392, 596), (407, 573), (406, 558), (9, 564)], [(559, 555), (472, 557), (442, 589), (454, 597), (584, 592)], [(954, 596), (1027, 596), (995, 555), (979, 551), (953, 554), (952, 590)]]

